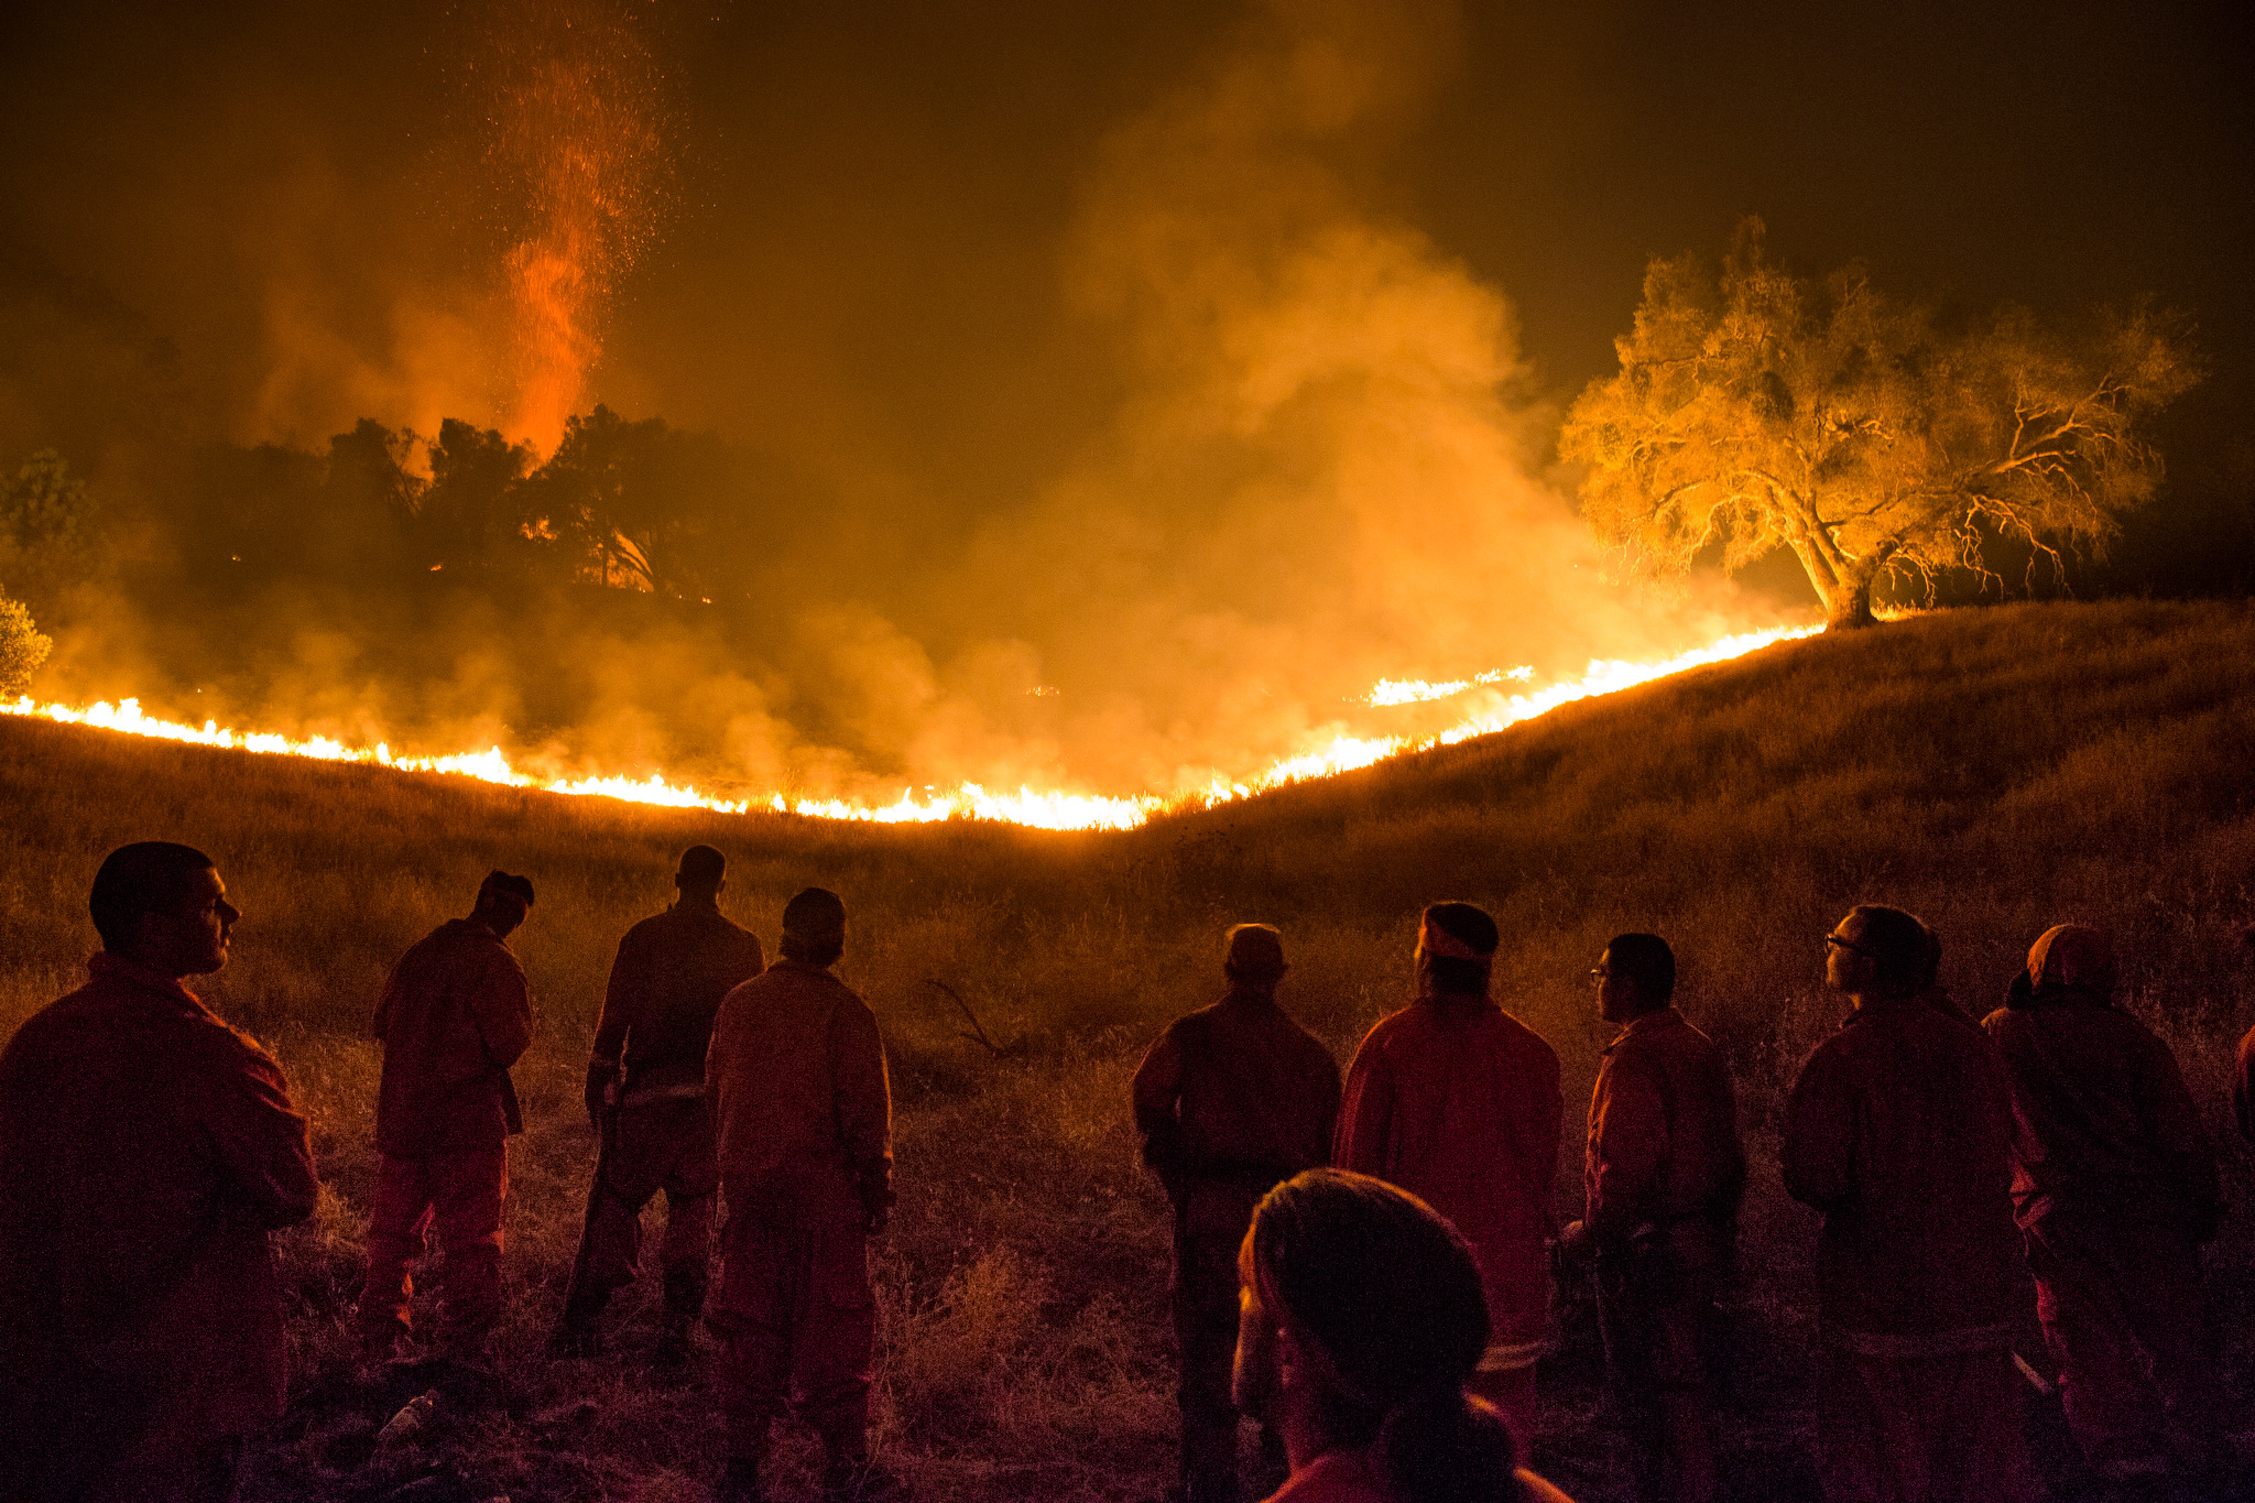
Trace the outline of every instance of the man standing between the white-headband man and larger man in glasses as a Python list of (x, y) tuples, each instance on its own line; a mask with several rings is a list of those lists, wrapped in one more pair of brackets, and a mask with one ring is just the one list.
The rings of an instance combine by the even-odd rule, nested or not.
[(1583, 1219), (1563, 1242), (1597, 1260), (1597, 1318), (1644, 1503), (1716, 1494), (1716, 1293), (1732, 1264), (1745, 1149), (1723, 1052), (1669, 998), (1675, 953), (1615, 935), (1597, 1012), (1619, 1023), (1590, 1093)]

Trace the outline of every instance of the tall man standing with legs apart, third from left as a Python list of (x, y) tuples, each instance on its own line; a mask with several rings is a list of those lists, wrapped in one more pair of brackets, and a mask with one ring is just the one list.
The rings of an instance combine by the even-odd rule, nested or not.
[(762, 969), (760, 940), (719, 913), (728, 859), (710, 845), (681, 852), (665, 913), (618, 942), (611, 987), (586, 1066), (586, 1118), (602, 1138), (586, 1228), (573, 1262), (555, 1352), (589, 1357), (611, 1291), (634, 1282), (643, 1246), (643, 1206), (665, 1192), (665, 1336), (658, 1363), (690, 1357), (690, 1327), (704, 1309), (713, 1257), (713, 1111), (704, 1061), (719, 1000)]

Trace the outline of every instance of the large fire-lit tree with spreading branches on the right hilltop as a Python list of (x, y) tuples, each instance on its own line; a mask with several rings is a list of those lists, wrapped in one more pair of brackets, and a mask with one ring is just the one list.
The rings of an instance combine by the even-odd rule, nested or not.
[(2160, 480), (2147, 419), (2196, 381), (2145, 304), (2077, 336), (2023, 309), (1951, 329), (1860, 264), (1790, 275), (1759, 219), (1721, 270), (1655, 257), (1615, 349), (1558, 439), (1597, 536), (1648, 577), (1790, 548), (1836, 622), (1869, 620), (1885, 572), (2000, 584), (1998, 548), (2054, 577), (2104, 550)]

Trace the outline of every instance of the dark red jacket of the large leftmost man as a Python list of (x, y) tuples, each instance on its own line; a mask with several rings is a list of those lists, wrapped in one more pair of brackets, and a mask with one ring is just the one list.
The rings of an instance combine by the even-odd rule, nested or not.
[(88, 971), (0, 1055), (0, 1476), (25, 1474), (14, 1447), (77, 1444), (54, 1408), (72, 1393), (126, 1440), (282, 1413), (266, 1233), (313, 1215), (307, 1120), (180, 982)]

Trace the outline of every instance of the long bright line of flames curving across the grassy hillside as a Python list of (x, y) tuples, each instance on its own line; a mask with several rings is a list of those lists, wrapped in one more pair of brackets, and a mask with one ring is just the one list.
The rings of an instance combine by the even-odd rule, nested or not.
[[(819, 820), (866, 820), (877, 825), (911, 825), (929, 820), (952, 820), (952, 818), (974, 818), (974, 820), (1003, 820), (1010, 825), (1031, 825), (1037, 829), (1132, 829), (1155, 813), (1177, 807), (1197, 804), (1220, 804), (1233, 798), (1249, 798), (1265, 789), (1281, 789), (1292, 782), (1306, 782), (1310, 777), (1330, 777), (1335, 773), (1346, 773), (1360, 766), (1371, 766), (1385, 757), (1396, 757), (1412, 750), (1425, 750), (1430, 746), (1454, 746), (1470, 737), (1504, 730), (1506, 726), (1518, 726), (1520, 721), (1531, 721), (1538, 714), (1547, 714), (1558, 705), (1574, 703), (1576, 699), (1590, 699), (1594, 694), (1615, 694), (1639, 683), (1651, 683), (1653, 678), (1666, 678), (1669, 674), (1682, 674), (1694, 667), (1705, 667), (1709, 662), (1727, 662), (1730, 658), (1741, 658), (1757, 647), (1768, 647), (1772, 642), (1788, 642), (1795, 638), (1806, 638), (1822, 631), (1822, 626), (1788, 626), (1777, 631), (1748, 631), (1741, 635), (1721, 638), (1707, 647), (1696, 647), (1687, 653), (1664, 658), (1660, 662), (1612, 662), (1592, 660), (1590, 672), (1581, 678), (1567, 683), (1554, 683), (1547, 690), (1533, 694), (1513, 694), (1457, 726), (1450, 726), (1436, 737), (1335, 737), (1328, 746), (1301, 753), (1297, 757), (1285, 757), (1272, 764), (1252, 782), (1229, 782), (1215, 777), (1211, 786), (1200, 793), (1182, 798), (1159, 798), (1146, 793), (1139, 798), (1107, 798), (1100, 793), (1042, 793), (1035, 789), (1019, 789), (1017, 793), (988, 793), (974, 782), (965, 782), (952, 791), (934, 791), (922, 798), (916, 791), (902, 791), (902, 795), (891, 804), (866, 804), (848, 802), (841, 798), (787, 798), (773, 793), (764, 800), (726, 800), (710, 793), (701, 793), (690, 786), (667, 782), (658, 773), (647, 777), (557, 777), (539, 780), (530, 773), (519, 773), (510, 766), (510, 759), (498, 746), (483, 753), (456, 753), (446, 757), (395, 757), (390, 746), (377, 741), (374, 746), (345, 746), (329, 737), (307, 737), (291, 739), (275, 732), (253, 730), (228, 730), (216, 721), (205, 721), (198, 726), (185, 726), (180, 721), (165, 721), (142, 714), (140, 701), (126, 699), (120, 703), (95, 703), (95, 705), (52, 705), (38, 703), (29, 694), (16, 699), (14, 703), (0, 701), (0, 714), (18, 714), (59, 721), (63, 726), (95, 726), (99, 730), (115, 730), (133, 737), (158, 737), (165, 741), (189, 741), (194, 746), (223, 746), (232, 750), (262, 753), (262, 755), (289, 755), (289, 757), (316, 757), (320, 762), (361, 762), (372, 766), (399, 768), (406, 773), (451, 773), (456, 777), (476, 777), (480, 782), (496, 782), (512, 789), (546, 789), (550, 793), (575, 793), (593, 798), (618, 798), (636, 804), (663, 804), (670, 809), (713, 809), (715, 813), (744, 813), (753, 807), (771, 809), (776, 813), (801, 813)], [(1504, 676), (1518, 676), (1518, 672), (1504, 674), (1482, 674), (1479, 683), (1493, 683)], [(1380, 687), (1394, 681), (1382, 681)], [(1418, 685), (1436, 687), (1436, 685)], [(1463, 685), (1470, 687), (1470, 685)], [(1452, 692), (1461, 692), (1452, 690)], [(1376, 694), (1376, 692), (1373, 692)], [(1371, 701), (1380, 703), (1380, 701)], [(1407, 701), (1385, 701), (1385, 703), (1407, 703)]]

